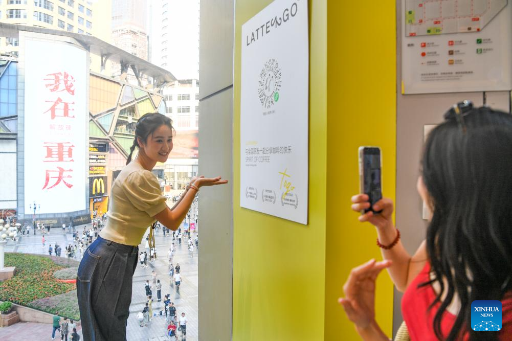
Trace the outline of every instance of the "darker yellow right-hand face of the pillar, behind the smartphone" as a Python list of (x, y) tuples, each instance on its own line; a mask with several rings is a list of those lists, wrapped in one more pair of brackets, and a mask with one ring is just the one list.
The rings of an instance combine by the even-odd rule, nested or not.
[[(337, 303), (351, 268), (381, 259), (370, 224), (357, 221), (350, 197), (358, 193), (357, 148), (382, 148), (383, 195), (395, 197), (395, 2), (329, 1), (325, 339), (359, 340)], [(391, 336), (393, 286), (377, 282), (376, 314)]]

